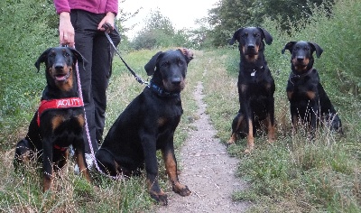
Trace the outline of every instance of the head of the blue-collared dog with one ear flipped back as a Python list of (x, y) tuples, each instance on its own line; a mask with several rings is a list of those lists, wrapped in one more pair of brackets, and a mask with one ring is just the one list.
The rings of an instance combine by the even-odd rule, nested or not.
[(193, 59), (193, 52), (180, 48), (175, 51), (159, 51), (144, 66), (148, 76), (153, 75), (153, 83), (168, 92), (180, 92), (184, 86), (187, 67)]

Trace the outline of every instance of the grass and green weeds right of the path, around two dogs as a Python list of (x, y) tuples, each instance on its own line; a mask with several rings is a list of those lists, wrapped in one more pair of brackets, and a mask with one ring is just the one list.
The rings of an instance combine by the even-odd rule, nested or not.
[[(326, 19), (322, 11), (316, 11), (313, 24), (295, 25), (294, 28), (302, 30), (293, 30), (291, 34), (279, 32), (278, 23), (265, 20), (264, 28), (273, 34), (273, 44), (266, 46), (265, 55), (276, 82), (277, 140), (268, 144), (266, 136), (260, 135), (255, 139), (256, 149), (251, 154), (244, 153), (245, 140), (228, 148), (230, 154), (240, 159), (238, 177), (249, 183), (247, 190), (236, 192), (233, 198), (252, 201), (255, 205), (250, 212), (361, 211), (361, 102), (356, 86), (359, 73), (354, 73), (360, 66), (360, 61), (354, 58), (359, 57), (359, 46), (355, 46), (354, 39), (358, 38), (355, 32), (361, 32), (361, 19), (356, 19), (359, 14), (347, 15), (359, 9), (359, 2), (338, 2), (333, 17)], [(343, 39), (339, 41), (339, 38)], [(303, 131), (292, 134), (285, 95), (290, 54), (282, 55), (281, 50), (286, 42), (299, 40), (317, 42), (324, 49), (321, 58), (316, 59), (315, 67), (342, 119), (346, 130), (344, 136), (320, 128), (316, 139), (310, 142)], [(349, 55), (348, 50), (354, 49), (356, 52)], [(236, 49), (227, 49), (205, 54), (217, 60), (216, 64), (221, 64), (213, 67), (204, 79), (205, 100), (212, 123), (218, 129), (218, 137), (226, 143), (232, 118), (238, 109), (239, 53)], [(341, 67), (347, 74), (340, 74)]]

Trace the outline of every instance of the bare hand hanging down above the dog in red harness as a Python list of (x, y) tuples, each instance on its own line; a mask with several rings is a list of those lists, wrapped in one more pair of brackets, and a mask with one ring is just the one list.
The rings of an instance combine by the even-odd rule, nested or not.
[(69, 45), (74, 47), (74, 27), (70, 22), (70, 14), (68, 12), (60, 13), (59, 21), (59, 41), (60, 45)]

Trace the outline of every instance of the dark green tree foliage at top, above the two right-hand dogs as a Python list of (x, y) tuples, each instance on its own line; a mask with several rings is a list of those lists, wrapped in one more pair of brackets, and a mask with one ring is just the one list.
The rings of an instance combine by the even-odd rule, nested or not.
[[(323, 0), (221, 0), (208, 12), (208, 23), (214, 28), (213, 44), (224, 46), (239, 27), (261, 26), (264, 17), (281, 23), (282, 30), (289, 30), (288, 23), (297, 23), (301, 18), (310, 17), (310, 7), (321, 5)], [(328, 1), (328, 3), (332, 3)], [(329, 9), (328, 9), (329, 10)]]

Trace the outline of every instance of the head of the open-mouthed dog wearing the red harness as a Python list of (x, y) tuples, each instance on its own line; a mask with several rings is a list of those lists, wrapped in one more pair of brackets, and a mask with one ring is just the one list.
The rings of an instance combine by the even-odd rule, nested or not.
[(48, 84), (54, 85), (62, 90), (69, 90), (73, 84), (73, 69), (76, 62), (83, 66), (87, 62), (75, 49), (69, 47), (54, 47), (42, 52), (35, 62), (35, 67), (40, 70), (42, 62), (45, 63), (46, 78)]

